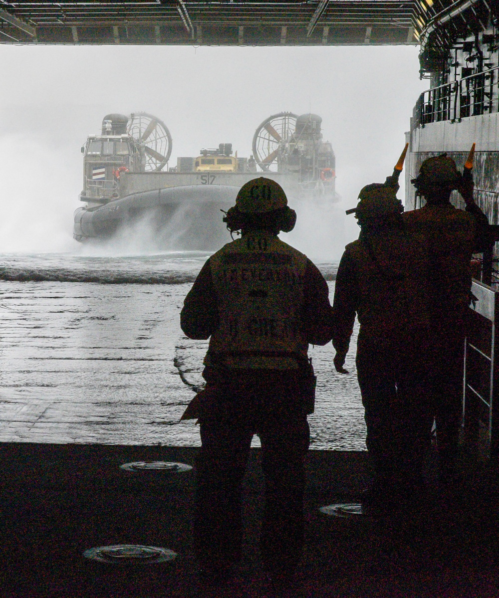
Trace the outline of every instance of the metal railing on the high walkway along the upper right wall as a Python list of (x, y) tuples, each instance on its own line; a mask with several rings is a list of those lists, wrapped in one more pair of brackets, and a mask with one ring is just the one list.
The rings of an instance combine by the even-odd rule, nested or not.
[(413, 110), (413, 127), (499, 112), (499, 66), (424, 91)]

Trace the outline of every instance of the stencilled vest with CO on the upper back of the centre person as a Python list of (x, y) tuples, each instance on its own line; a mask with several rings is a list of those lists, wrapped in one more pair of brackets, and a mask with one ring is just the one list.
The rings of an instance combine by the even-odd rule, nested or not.
[(306, 363), (306, 263), (306, 255), (267, 231), (248, 233), (209, 258), (220, 326), (205, 365), (288, 370)]

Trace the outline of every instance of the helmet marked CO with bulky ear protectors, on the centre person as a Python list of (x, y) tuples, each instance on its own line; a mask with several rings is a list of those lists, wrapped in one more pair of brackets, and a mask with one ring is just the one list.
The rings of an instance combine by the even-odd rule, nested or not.
[[(288, 200), (279, 183), (260, 176), (245, 183), (223, 221), (231, 232), (245, 225), (255, 228), (257, 223), (289, 233), (296, 224), (296, 212), (288, 207)], [(274, 224), (275, 223), (275, 224)]]

